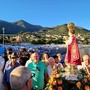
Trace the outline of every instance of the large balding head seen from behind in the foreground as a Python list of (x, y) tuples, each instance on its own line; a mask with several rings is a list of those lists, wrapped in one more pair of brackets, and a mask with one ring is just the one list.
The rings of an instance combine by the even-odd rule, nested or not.
[(10, 74), (11, 90), (31, 90), (32, 74), (25, 66), (15, 68)]

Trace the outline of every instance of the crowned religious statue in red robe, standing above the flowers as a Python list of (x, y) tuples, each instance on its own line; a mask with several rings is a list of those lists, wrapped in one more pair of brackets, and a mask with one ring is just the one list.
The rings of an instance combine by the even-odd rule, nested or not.
[(65, 56), (65, 62), (74, 66), (81, 65), (80, 53), (78, 48), (78, 42), (75, 37), (74, 24), (69, 23), (67, 25), (69, 38), (65, 41), (67, 45), (67, 52)]

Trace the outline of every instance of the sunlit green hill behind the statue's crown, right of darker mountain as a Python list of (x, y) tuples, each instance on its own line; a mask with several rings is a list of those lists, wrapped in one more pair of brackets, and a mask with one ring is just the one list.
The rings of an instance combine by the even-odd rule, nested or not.
[[(75, 26), (74, 28), (75, 33), (76, 34), (90, 34), (90, 30)], [(38, 33), (46, 33), (46, 34), (57, 34), (57, 35), (61, 35), (61, 34), (67, 34), (68, 33), (68, 29), (67, 29), (67, 24), (64, 25), (60, 25), (60, 26), (56, 26), (56, 27), (52, 27), (52, 28), (43, 28), (41, 30), (38, 31)]]

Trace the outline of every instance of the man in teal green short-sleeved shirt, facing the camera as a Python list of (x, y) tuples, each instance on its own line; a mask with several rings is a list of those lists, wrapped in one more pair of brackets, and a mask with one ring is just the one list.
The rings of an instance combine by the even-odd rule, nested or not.
[(32, 54), (33, 62), (28, 64), (29, 70), (34, 74), (32, 80), (32, 90), (42, 90), (45, 86), (45, 82), (48, 81), (47, 68), (44, 62), (39, 61), (39, 55), (37, 52)]

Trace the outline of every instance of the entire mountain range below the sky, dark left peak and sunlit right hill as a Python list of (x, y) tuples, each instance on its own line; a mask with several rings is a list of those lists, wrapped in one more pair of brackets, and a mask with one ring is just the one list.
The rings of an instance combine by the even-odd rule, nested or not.
[[(33, 25), (24, 20), (19, 20), (16, 22), (7, 22), (0, 20), (0, 34), (3, 33), (2, 28), (5, 28), (5, 34), (17, 34), (19, 32), (34, 32), (41, 34), (67, 34), (67, 24), (58, 25), (55, 27), (42, 27), (40, 25)], [(74, 28), (76, 34), (90, 34), (90, 30), (84, 29), (82, 27), (75, 26)]]

